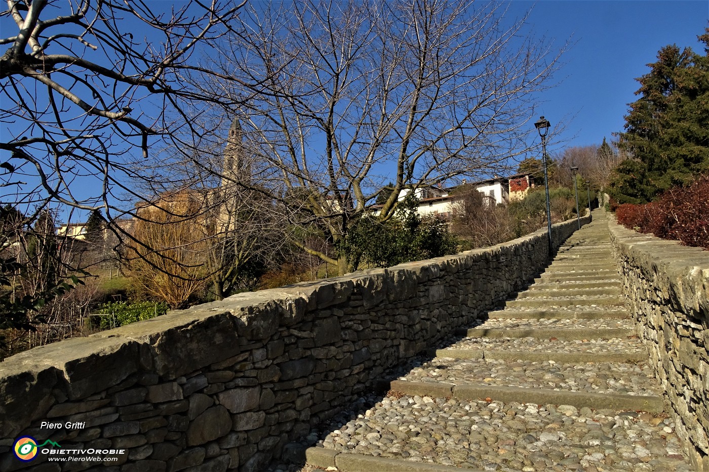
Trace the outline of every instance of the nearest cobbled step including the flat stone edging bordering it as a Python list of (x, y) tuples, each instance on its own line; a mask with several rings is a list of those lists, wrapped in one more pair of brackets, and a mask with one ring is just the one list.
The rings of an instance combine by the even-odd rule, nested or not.
[[(526, 400), (505, 402), (497, 398), (518, 392), (472, 385), (402, 395), (399, 386), (393, 383), (367, 412), (323, 433), (318, 447), (306, 451), (307, 463), (340, 472), (692, 470), (666, 415), (613, 409), (630, 395), (605, 395), (598, 403), (602, 395), (530, 389)], [(655, 398), (647, 405), (659, 406)], [(635, 459), (624, 462), (628, 457)]]

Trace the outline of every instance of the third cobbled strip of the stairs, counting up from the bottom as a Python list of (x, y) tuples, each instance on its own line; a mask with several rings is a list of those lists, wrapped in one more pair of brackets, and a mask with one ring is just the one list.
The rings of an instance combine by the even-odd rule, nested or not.
[[(553, 338), (552, 338), (553, 339)], [(452, 344), (452, 349), (489, 349), (497, 351), (524, 351), (524, 352), (593, 352), (623, 353), (645, 352), (645, 347), (640, 339), (618, 338), (587, 339), (575, 341), (561, 341), (552, 339), (537, 339), (534, 337), (490, 339), (485, 337), (466, 337)]]

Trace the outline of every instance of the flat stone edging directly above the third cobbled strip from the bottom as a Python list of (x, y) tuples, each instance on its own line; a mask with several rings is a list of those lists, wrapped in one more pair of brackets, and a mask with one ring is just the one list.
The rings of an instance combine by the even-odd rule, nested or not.
[(612, 339), (614, 337), (635, 336), (635, 330), (627, 328), (468, 328), (457, 330), (457, 335), (467, 337), (487, 337), (491, 339), (503, 337), (536, 337), (539, 339), (556, 338), (568, 341), (570, 339)]

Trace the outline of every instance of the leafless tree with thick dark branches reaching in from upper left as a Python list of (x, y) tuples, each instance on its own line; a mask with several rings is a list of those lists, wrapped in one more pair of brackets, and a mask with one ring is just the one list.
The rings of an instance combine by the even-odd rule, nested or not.
[[(195, 0), (168, 11), (158, 11), (164, 2), (141, 0), (6, 4), (0, 201), (28, 222), (57, 204), (86, 213), (100, 208), (112, 221), (125, 200), (144, 198), (133, 178), (152, 178), (144, 162), (149, 150), (171, 133), (193, 131), (205, 97), (183, 79), (193, 69), (191, 55), (218, 40), (243, 3)], [(3, 259), (0, 277), (17, 264)], [(0, 301), (20, 311), (35, 304)]]

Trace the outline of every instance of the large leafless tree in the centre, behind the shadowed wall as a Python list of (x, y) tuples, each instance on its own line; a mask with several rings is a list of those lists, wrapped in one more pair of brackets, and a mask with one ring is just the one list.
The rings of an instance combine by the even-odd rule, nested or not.
[[(203, 94), (228, 97), (274, 179), (269, 198), (342, 247), (383, 184), (379, 218), (403, 189), (506, 168), (529, 150), (533, 96), (561, 52), (525, 18), (471, 1), (256, 2), (231, 23)], [(530, 140), (532, 142), (532, 140)], [(276, 184), (276, 181), (279, 184)], [(278, 193), (279, 192), (279, 193)], [(342, 252), (308, 253), (347, 271)]]

